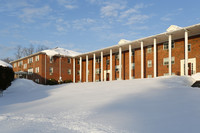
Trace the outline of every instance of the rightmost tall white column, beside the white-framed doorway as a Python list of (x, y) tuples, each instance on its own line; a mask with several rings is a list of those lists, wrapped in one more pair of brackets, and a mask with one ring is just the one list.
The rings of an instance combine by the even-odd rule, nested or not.
[(185, 31), (185, 75), (188, 76), (188, 31)]

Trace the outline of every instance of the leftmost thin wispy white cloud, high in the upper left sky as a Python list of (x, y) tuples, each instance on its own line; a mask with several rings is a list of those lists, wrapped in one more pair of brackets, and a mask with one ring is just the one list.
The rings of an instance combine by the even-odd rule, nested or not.
[(35, 18), (43, 18), (48, 15), (52, 9), (49, 6), (43, 6), (40, 8), (24, 8), (19, 17), (24, 22), (35, 22)]

